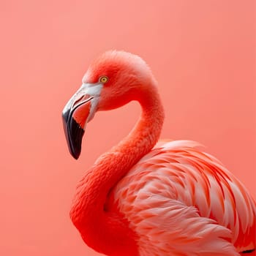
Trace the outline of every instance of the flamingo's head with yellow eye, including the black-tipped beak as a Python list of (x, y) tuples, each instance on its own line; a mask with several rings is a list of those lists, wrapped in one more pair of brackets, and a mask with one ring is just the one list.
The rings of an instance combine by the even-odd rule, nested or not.
[(111, 110), (140, 100), (154, 80), (151, 70), (139, 56), (111, 50), (91, 63), (82, 86), (69, 99), (62, 112), (70, 154), (78, 159), (86, 124), (99, 110)]

